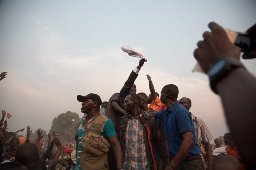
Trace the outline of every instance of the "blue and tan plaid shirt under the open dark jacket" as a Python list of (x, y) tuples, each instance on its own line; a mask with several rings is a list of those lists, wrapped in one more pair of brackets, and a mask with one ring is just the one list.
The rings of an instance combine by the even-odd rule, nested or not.
[(124, 169), (150, 169), (149, 156), (145, 143), (143, 124), (139, 117), (129, 115), (125, 132), (125, 159)]

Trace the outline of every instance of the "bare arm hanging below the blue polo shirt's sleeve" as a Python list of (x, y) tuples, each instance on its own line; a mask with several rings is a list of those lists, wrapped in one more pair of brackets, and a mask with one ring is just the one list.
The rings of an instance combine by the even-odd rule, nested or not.
[(172, 161), (169, 163), (169, 165), (165, 168), (165, 170), (171, 170), (177, 167), (180, 162), (185, 159), (192, 148), (193, 145), (193, 135), (192, 132), (184, 132), (181, 134), (183, 137), (183, 141), (180, 145), (180, 149), (177, 153), (177, 155), (172, 159)]

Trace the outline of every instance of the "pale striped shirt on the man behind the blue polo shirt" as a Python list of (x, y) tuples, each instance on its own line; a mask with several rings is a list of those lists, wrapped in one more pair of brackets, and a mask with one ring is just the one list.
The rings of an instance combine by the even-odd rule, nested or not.
[(191, 114), (191, 117), (192, 117), (192, 120), (194, 123), (194, 127), (195, 127), (197, 143), (201, 144), (202, 140), (204, 143), (212, 140), (213, 136), (212, 136), (210, 130), (208, 129), (208, 127), (206, 126), (206, 124), (204, 123), (204, 121), (202, 119), (200, 119), (199, 117), (194, 116), (191, 112), (190, 112), (190, 114)]

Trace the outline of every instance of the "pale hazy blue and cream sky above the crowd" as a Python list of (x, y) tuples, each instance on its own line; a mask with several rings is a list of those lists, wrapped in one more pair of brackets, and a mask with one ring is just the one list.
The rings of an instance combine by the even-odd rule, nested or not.
[[(0, 110), (12, 114), (7, 130), (29, 125), (48, 132), (53, 118), (68, 110), (82, 117), (77, 95), (108, 101), (139, 64), (121, 50), (131, 46), (148, 58), (137, 93), (150, 93), (146, 74), (158, 93), (175, 84), (178, 99), (192, 100), (190, 111), (213, 137), (223, 136), (228, 127), (220, 97), (205, 74), (192, 73), (193, 52), (209, 22), (244, 32), (255, 24), (255, 7), (255, 0), (1, 0), (0, 72), (7, 76), (0, 82)], [(255, 59), (241, 62), (256, 76)]]

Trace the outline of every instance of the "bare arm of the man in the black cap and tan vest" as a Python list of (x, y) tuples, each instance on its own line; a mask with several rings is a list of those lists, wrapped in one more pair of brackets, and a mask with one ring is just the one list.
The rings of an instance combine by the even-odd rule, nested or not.
[(122, 154), (122, 150), (121, 150), (121, 146), (118, 142), (117, 136), (113, 136), (108, 138), (110, 144), (113, 147), (113, 152), (114, 152), (114, 156), (115, 156), (115, 160), (116, 160), (116, 167), (118, 168), (122, 168), (123, 167), (123, 154)]

